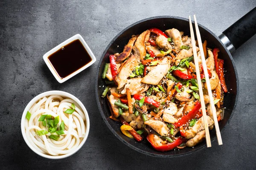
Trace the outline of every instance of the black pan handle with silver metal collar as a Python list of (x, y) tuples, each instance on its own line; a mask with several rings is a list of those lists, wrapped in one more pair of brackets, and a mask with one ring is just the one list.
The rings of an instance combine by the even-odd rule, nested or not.
[(256, 7), (241, 17), (219, 36), (221, 41), (232, 52), (256, 34)]

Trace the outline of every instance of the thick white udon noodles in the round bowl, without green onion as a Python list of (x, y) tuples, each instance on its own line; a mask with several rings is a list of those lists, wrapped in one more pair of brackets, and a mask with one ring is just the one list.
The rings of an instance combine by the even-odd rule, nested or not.
[[(72, 104), (75, 108), (72, 108)], [(74, 109), (72, 114), (65, 113), (67, 109)], [(86, 125), (85, 115), (80, 106), (72, 99), (64, 99), (58, 95), (47, 96), (40, 99), (29, 109), (30, 119), (25, 121), (26, 137), (30, 144), (41, 153), (59, 156), (75, 150), (85, 135)], [(51, 115), (59, 122), (56, 125), (59, 130), (61, 122), (64, 122), (64, 134), (58, 136), (57, 140), (50, 139), (50, 135), (57, 136), (56, 132), (39, 136), (38, 130), (47, 130), (49, 126), (43, 125), (43, 121), (38, 121), (41, 115)], [(47, 119), (46, 119), (47, 120)]]

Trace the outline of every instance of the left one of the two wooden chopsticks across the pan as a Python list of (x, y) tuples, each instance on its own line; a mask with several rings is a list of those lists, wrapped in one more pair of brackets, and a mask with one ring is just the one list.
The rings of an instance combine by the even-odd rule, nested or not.
[[(201, 108), (202, 108), (202, 112), (203, 112), (206, 144), (207, 144), (207, 147), (211, 147), (212, 144), (211, 144), (211, 138), (210, 138), (210, 134), (209, 134), (207, 114), (206, 114), (206, 110), (205, 110), (204, 93), (203, 93), (199, 65), (198, 65), (198, 56), (197, 56), (196, 45), (195, 45), (195, 36), (194, 36), (194, 30), (193, 30), (190, 16), (189, 16), (189, 26), (190, 26), (190, 35), (191, 35), (191, 40), (192, 40), (192, 50), (193, 50), (194, 61), (195, 61), (196, 78), (198, 81), (199, 96), (200, 96)], [(207, 87), (209, 87), (209, 86), (207, 86)]]

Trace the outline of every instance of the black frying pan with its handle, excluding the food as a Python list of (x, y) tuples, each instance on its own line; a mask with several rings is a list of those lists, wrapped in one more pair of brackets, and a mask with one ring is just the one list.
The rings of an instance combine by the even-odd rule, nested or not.
[[(162, 153), (154, 150), (153, 147), (151, 147), (151, 144), (146, 141), (146, 139), (145, 141), (137, 142), (136, 140), (130, 139), (123, 135), (120, 130), (121, 124), (109, 118), (109, 116), (111, 116), (111, 112), (108, 108), (107, 101), (105, 98), (101, 97), (102, 91), (106, 86), (105, 81), (101, 78), (101, 76), (105, 63), (109, 62), (109, 55), (115, 54), (116, 52), (121, 53), (132, 35), (141, 34), (143, 31), (153, 27), (159, 28), (162, 31), (170, 28), (176, 28), (179, 31), (184, 31), (184, 35), (189, 35), (190, 33), (188, 19), (169, 16), (147, 18), (145, 20), (138, 21), (131, 26), (128, 26), (123, 31), (121, 31), (109, 43), (104, 53), (102, 54), (102, 58), (99, 61), (97, 70), (98, 80), (96, 81), (95, 88), (97, 105), (99, 107), (102, 118), (104, 119), (109, 129), (113, 132), (113, 134), (124, 144), (133, 148), (134, 150), (157, 157), (172, 157), (192, 153), (195, 150), (200, 150), (206, 147), (206, 143), (202, 142), (196, 145), (194, 148), (186, 147), (181, 150), (171, 150)], [(244, 42), (246, 42), (256, 33), (256, 8), (253, 8), (252, 11), (247, 13), (244, 17), (227, 28), (220, 37), (217, 37), (204, 26), (199, 25), (199, 30), (201, 33), (202, 41), (204, 42), (204, 40), (207, 40), (207, 46), (212, 48), (217, 47), (220, 49), (218, 56), (219, 58), (224, 59), (224, 68), (225, 71), (227, 71), (225, 73), (225, 80), (229, 93), (225, 94), (224, 96), (224, 107), (226, 109), (224, 119), (219, 122), (219, 127), (222, 132), (225, 125), (229, 123), (229, 120), (233, 116), (238, 99), (238, 76), (230, 51), (239, 48)], [(102, 87), (103, 85), (104, 87)], [(215, 129), (210, 130), (210, 136), (212, 141), (216, 138)]]

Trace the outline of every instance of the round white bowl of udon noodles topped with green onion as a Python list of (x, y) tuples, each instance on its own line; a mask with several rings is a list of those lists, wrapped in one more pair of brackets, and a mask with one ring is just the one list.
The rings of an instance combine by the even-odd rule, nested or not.
[(49, 91), (29, 102), (21, 128), (32, 150), (47, 158), (60, 159), (72, 155), (84, 144), (89, 133), (89, 117), (75, 96)]

